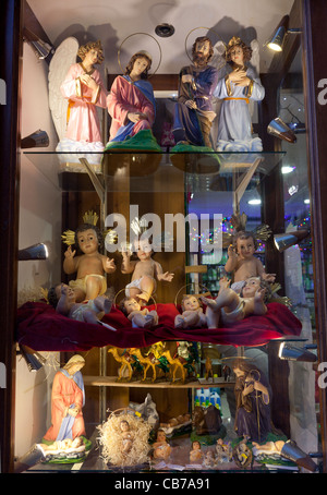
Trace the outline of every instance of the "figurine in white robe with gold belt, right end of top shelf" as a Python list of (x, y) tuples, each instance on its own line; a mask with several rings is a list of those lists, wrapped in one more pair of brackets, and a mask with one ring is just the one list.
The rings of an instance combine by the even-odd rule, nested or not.
[(250, 100), (261, 101), (265, 88), (245, 63), (252, 48), (233, 36), (226, 51), (227, 73), (218, 82), (214, 96), (222, 99), (218, 123), (218, 152), (262, 152), (259, 137), (252, 137)]

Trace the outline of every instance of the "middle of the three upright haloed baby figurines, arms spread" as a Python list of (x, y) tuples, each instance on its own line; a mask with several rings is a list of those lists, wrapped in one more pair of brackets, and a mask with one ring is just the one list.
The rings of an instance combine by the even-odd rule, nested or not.
[(171, 281), (173, 274), (164, 273), (160, 263), (152, 258), (152, 247), (147, 240), (136, 242), (136, 252), (138, 261), (131, 261), (131, 254), (128, 251), (122, 252), (122, 274), (133, 274), (132, 281), (125, 287), (128, 298), (142, 299), (147, 302), (156, 289), (156, 280)]

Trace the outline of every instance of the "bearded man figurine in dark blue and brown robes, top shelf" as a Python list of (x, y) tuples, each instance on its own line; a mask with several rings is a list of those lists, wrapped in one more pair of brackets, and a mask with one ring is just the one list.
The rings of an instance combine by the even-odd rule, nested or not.
[(211, 99), (218, 82), (217, 69), (208, 65), (213, 55), (210, 39), (196, 38), (192, 47), (193, 63), (180, 72), (172, 130), (175, 144), (211, 147), (210, 129), (216, 117)]

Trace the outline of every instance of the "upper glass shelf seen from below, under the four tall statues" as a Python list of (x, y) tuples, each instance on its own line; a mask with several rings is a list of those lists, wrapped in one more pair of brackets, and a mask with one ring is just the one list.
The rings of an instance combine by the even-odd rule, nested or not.
[[(201, 192), (235, 191), (249, 172), (263, 180), (281, 165), (284, 152), (171, 154), (106, 152), (96, 165), (92, 155), (65, 153), (66, 161), (56, 152), (23, 152), (23, 155), (61, 191), (93, 191), (87, 172), (106, 186), (107, 192)], [(70, 157), (70, 155), (72, 155)], [(83, 162), (81, 162), (81, 159)], [(240, 179), (241, 178), (241, 179)]]

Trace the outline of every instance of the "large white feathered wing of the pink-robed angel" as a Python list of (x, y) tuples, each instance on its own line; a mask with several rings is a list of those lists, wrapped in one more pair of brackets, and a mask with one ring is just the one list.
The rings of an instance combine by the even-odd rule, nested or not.
[(69, 37), (59, 45), (49, 65), (49, 107), (59, 141), (65, 135), (68, 109), (68, 100), (63, 98), (60, 86), (70, 67), (76, 62), (77, 51), (77, 39)]

